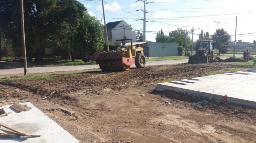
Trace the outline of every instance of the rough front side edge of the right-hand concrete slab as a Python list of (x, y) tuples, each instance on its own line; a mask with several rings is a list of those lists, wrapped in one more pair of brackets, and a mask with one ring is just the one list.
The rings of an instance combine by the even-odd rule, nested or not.
[[(157, 87), (155, 88), (156, 91), (175, 91), (181, 94), (189, 95), (189, 96), (201, 96), (205, 98), (211, 98), (213, 100), (221, 100), (223, 98), (223, 95), (218, 95), (218, 94), (212, 94), (212, 93), (207, 93), (207, 92), (201, 92), (201, 91), (194, 91), (194, 90), (189, 90), (189, 89), (183, 89), (183, 88), (177, 88), (173, 86), (168, 86), (168, 85), (163, 85), (161, 83), (157, 84)], [(227, 95), (227, 103), (235, 103), (239, 105), (244, 105), (244, 106), (249, 106), (252, 108), (256, 108), (256, 103), (253, 101), (248, 101), (248, 100), (243, 100), (243, 99), (237, 99), (237, 98), (232, 98)]]

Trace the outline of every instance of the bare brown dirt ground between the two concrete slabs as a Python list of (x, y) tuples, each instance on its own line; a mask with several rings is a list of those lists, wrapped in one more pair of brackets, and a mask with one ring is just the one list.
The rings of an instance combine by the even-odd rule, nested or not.
[[(29, 101), (81, 143), (256, 143), (255, 109), (154, 90), (157, 83), (237, 67), (251, 68), (176, 64), (126, 72), (45, 73), (51, 80), (1, 80), (0, 106)], [(59, 106), (75, 111), (78, 120)]]

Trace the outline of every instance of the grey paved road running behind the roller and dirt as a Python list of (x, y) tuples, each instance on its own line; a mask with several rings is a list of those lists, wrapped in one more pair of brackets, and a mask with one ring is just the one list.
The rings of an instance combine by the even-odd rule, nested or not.
[[(229, 57), (222, 57), (221, 59), (226, 59)], [(165, 61), (147, 61), (146, 66), (149, 65), (164, 65), (164, 64), (178, 64), (186, 63), (188, 59), (182, 60), (165, 60)], [(132, 65), (131, 67), (135, 67)], [(27, 68), (27, 73), (46, 73), (46, 72), (59, 72), (59, 71), (76, 71), (76, 70), (90, 70), (98, 69), (99, 65), (73, 65), (73, 66), (54, 66), (54, 67), (33, 67)], [(0, 69), (0, 75), (5, 74), (19, 74), (24, 73), (24, 68), (15, 68), (15, 69)]]

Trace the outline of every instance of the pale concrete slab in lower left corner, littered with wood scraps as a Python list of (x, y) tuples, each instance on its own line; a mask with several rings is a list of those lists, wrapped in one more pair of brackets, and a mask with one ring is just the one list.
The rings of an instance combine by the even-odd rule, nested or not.
[[(10, 108), (10, 105), (4, 107), (5, 112), (12, 112), (7, 116), (1, 117), (2, 123), (16, 127), (19, 130), (28, 132), (40, 137), (20, 137), (18, 139), (12, 137), (0, 137), (0, 143), (79, 143), (75, 137), (64, 130), (60, 125), (46, 116), (42, 111), (36, 108), (30, 102), (26, 104), (31, 109), (29, 111), (20, 112)], [(8, 132), (10, 130), (0, 127), (1, 131)]]

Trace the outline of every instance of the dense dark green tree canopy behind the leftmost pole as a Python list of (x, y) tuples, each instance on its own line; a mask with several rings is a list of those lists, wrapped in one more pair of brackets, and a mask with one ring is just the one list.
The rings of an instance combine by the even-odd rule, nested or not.
[[(0, 17), (6, 39), (12, 41), (14, 49), (21, 48), (20, 3), (1, 2)], [(24, 22), (27, 55), (33, 55), (35, 61), (42, 61), (45, 48), (70, 47), (74, 53), (79, 48), (99, 45), (103, 39), (102, 24), (76, 0), (24, 0)]]

